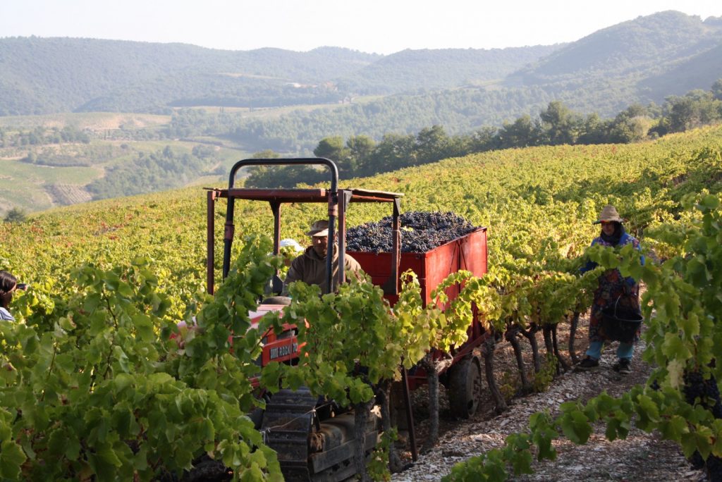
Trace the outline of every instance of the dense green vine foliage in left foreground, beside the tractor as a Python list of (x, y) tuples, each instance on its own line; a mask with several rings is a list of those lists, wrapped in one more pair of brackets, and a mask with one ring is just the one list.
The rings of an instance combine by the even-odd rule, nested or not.
[[(266, 258), (258, 249), (247, 252), (246, 263)], [(204, 378), (209, 364), (217, 370), (228, 356), (226, 340), (212, 346), (215, 327), (227, 321), (211, 320), (216, 302), (204, 308), (195, 336), (179, 351), (167, 338), (177, 330), (170, 302), (157, 292), (148, 265), (136, 259), (110, 270), (80, 266), (71, 273), (69, 297), (53, 298), (43, 310), (28, 303), (35, 310), (20, 311), (25, 323), (0, 324), (4, 477), (150, 481), (191, 469), (205, 453), (234, 468), (235, 480), (251, 473), (279, 479), (274, 452), (238, 403), (248, 398), (250, 383), (212, 386)], [(253, 289), (253, 266), (245, 266), (245, 276), (232, 274), (227, 286)], [(244, 363), (253, 365), (248, 356), (236, 355), (241, 373)], [(200, 372), (174, 376), (179, 359), (179, 372)]]

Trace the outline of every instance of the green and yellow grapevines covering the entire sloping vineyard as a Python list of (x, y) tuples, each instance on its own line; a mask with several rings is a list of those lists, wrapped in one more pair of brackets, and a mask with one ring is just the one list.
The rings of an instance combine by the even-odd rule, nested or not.
[[(235, 236), (243, 242), (235, 243), (235, 264), (214, 297), (204, 292), (206, 196), (198, 188), (3, 224), (0, 269), (31, 287), (10, 307), (20, 323), (0, 321), (0, 477), (173, 480), (203, 460), (217, 460), (237, 480), (280, 480), (275, 453), (244, 415), (264, 405), (251, 380), (271, 393), (309, 387), (360, 417), (374, 391), (386, 398), (401, 360), (411, 368), (429, 349), (461, 343), (474, 308), (496, 334), (484, 346), (492, 374), (496, 339), (531, 344), (534, 373), (518, 374), (520, 392), (530, 393), (550, 360), (560, 371), (575, 361), (573, 347), (560, 351), (557, 325), (575, 326), (605, 268), (647, 286), (643, 356), (656, 366), (648, 384), (619, 398), (565, 402), (556, 418), (535, 414), (529, 431), (459, 465), (449, 480), (529, 472), (532, 457), (554, 458), (552, 440), (563, 434), (586, 442), (597, 420), (606, 423), (609, 439), (626, 437), (635, 424), (660, 431), (698, 463), (722, 456), (716, 418), (722, 414), (714, 403), (722, 346), (716, 324), (722, 314), (721, 127), (643, 144), (474, 154), (352, 184), (403, 193), (402, 211), (451, 211), (487, 227), (487, 274), (455, 273), (432, 297), (444, 302), (445, 286), (459, 284), (458, 297), (427, 306), (418, 281), (407, 276), (393, 312), (367, 280), (324, 297), (296, 284), (282, 317), (268, 315), (251, 328), (248, 312), (282, 266), (269, 256), (264, 237), (273, 218), (256, 205), (236, 203), (243, 232)], [(598, 234), (592, 222), (607, 203), (642, 240), (651, 260), (645, 266), (633, 250), (588, 249)], [(325, 215), (324, 207), (285, 209), (282, 236), (305, 242), (303, 232)], [(378, 222), (386, 214), (373, 204), (353, 206), (347, 224)], [(579, 276), (586, 257), (600, 268)], [(178, 328), (193, 318), (198, 329)], [(318, 323), (297, 323), (304, 318)], [(269, 364), (257, 377), (261, 337), (284, 324), (298, 326), (299, 341), (313, 356), (292, 368)], [(541, 348), (536, 333), (543, 333)], [(334, 342), (349, 339), (355, 343)], [(360, 373), (357, 364), (367, 370)], [(487, 382), (493, 389), (493, 376)], [(501, 393), (495, 401), (504, 411)], [(395, 462), (393, 430), (387, 426), (384, 433), (366, 466), (380, 480)]]

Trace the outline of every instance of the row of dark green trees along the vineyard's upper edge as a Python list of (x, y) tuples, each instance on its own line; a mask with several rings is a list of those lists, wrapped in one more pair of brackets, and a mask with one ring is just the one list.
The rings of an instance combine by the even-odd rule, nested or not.
[[(663, 106), (631, 105), (612, 119), (596, 113), (581, 115), (562, 102), (549, 102), (537, 118), (522, 115), (500, 128), (485, 127), (469, 134), (449, 136), (443, 126), (423, 128), (417, 135), (388, 133), (377, 143), (369, 136), (325, 137), (313, 154), (333, 160), (342, 178), (373, 175), (460, 157), (475, 152), (560, 144), (624, 144), (682, 132), (722, 121), (722, 79), (710, 91), (692, 90), (668, 97)], [(266, 150), (256, 157), (278, 157)], [(326, 176), (311, 167), (253, 167), (248, 187), (286, 187), (318, 183)]]

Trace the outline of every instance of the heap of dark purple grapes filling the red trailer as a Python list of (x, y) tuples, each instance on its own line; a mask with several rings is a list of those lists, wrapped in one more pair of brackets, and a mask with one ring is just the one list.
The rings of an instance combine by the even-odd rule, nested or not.
[[(452, 212), (409, 211), (399, 217), (402, 253), (426, 253), (477, 229)], [(392, 216), (386, 216), (379, 222), (349, 228), (346, 249), (363, 253), (391, 253), (392, 221)]]

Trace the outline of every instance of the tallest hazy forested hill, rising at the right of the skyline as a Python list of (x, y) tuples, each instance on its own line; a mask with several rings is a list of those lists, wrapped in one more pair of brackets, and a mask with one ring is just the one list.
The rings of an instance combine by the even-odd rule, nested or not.
[(722, 21), (660, 12), (565, 45), (508, 84), (536, 85), (574, 108), (606, 114), (617, 102), (661, 102), (721, 75)]

